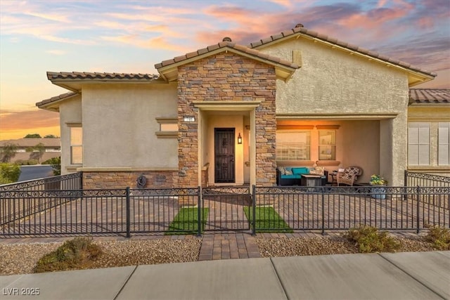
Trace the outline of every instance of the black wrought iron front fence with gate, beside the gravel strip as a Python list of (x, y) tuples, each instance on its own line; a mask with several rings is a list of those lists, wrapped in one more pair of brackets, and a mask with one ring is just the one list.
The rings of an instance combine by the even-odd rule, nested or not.
[(450, 187), (0, 190), (0, 235), (449, 228)]

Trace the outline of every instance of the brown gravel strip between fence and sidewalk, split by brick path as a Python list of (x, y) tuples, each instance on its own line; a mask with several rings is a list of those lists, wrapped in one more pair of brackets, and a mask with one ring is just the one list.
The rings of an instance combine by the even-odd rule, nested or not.
[[(433, 251), (422, 237), (396, 237), (401, 240), (401, 252)], [(262, 257), (357, 253), (354, 244), (334, 235), (326, 237), (257, 237)], [(202, 240), (96, 240), (103, 255), (94, 268), (133, 266), (155, 263), (198, 261)], [(0, 244), (0, 275), (32, 273), (36, 262), (63, 242)]]

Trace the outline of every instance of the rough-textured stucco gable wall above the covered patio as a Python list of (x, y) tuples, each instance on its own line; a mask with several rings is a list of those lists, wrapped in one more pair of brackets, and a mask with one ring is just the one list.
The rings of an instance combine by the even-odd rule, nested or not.
[(294, 49), (300, 50), (302, 66), (288, 82), (277, 81), (277, 114), (406, 110), (408, 80), (404, 72), (305, 38), (259, 51), (292, 61)]

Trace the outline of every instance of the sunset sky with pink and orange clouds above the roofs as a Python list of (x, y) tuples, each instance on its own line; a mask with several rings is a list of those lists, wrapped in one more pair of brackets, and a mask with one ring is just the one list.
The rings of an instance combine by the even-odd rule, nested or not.
[(425, 70), (450, 88), (450, 0), (0, 0), (0, 140), (59, 136), (35, 103), (68, 92), (46, 71), (157, 74), (155, 63), (231, 37), (247, 45), (302, 23)]

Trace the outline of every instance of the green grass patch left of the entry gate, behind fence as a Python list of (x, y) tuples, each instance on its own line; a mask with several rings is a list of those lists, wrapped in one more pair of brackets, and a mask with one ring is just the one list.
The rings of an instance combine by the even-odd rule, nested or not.
[[(210, 209), (203, 208), (202, 217), (202, 229), (205, 231), (205, 224), (208, 218)], [(176, 214), (174, 221), (170, 223), (169, 229), (165, 232), (165, 235), (195, 235), (198, 233), (198, 208), (197, 207), (184, 207)]]

